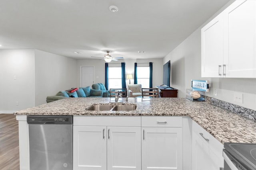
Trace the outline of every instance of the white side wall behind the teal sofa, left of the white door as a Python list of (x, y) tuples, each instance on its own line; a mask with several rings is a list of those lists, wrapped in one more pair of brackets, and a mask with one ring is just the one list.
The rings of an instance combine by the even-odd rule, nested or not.
[(35, 106), (47, 96), (76, 87), (76, 60), (35, 50)]

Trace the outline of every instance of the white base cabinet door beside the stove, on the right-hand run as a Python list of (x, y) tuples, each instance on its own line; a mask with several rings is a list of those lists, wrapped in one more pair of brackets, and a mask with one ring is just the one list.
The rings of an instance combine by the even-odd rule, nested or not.
[(217, 155), (209, 144), (192, 132), (192, 170), (219, 170), (224, 166), (222, 155)]

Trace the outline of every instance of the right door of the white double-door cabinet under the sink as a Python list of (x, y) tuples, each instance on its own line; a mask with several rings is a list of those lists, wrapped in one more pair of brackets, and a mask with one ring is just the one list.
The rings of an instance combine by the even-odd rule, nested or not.
[(141, 127), (108, 127), (108, 170), (141, 170)]

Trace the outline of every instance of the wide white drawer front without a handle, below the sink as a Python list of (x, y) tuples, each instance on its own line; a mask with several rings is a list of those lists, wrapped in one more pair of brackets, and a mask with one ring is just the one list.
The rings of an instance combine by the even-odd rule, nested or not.
[(141, 126), (140, 116), (74, 116), (74, 126)]

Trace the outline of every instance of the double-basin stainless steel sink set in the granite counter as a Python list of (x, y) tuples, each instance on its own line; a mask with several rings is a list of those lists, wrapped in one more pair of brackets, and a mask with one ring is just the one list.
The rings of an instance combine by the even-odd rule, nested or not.
[(137, 108), (136, 105), (106, 105), (98, 104), (88, 107), (86, 110), (92, 111), (132, 111)]

